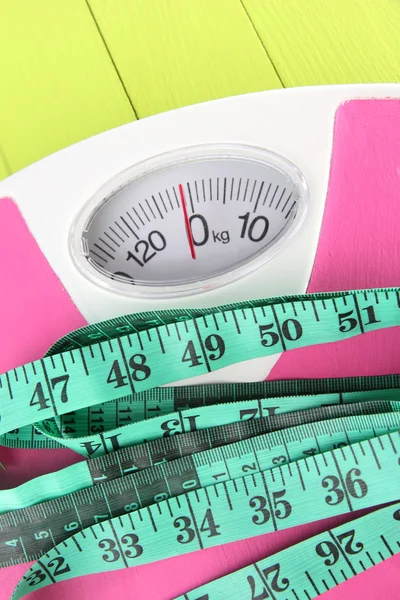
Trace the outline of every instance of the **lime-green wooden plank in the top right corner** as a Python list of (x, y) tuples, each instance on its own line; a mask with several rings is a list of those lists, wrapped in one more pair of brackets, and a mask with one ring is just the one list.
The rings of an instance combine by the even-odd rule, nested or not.
[(243, 4), (285, 86), (399, 81), (400, 2)]

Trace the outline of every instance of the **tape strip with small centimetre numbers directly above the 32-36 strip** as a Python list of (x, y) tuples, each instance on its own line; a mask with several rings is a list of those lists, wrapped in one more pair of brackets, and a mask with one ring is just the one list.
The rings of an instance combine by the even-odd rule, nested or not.
[[(313, 422), (312, 415), (309, 415), (306, 425), (281, 430), (278, 429), (279, 423), (273, 423), (273, 433), (205, 451), (201, 446), (196, 446), (194, 453), (175, 460), (168, 456), (172, 462), (161, 462), (144, 470), (132, 472), (137, 469), (133, 461), (129, 463), (130, 473), (122, 471), (120, 476), (115, 468), (110, 474), (109, 465), (100, 476), (96, 469), (97, 485), (93, 488), (86, 487), (68, 495), (64, 492), (62, 498), (0, 515), (0, 567), (36, 560), (54, 544), (67, 539), (72, 532), (178, 496), (187, 490), (238, 479), (246, 473), (266, 471), (305, 456), (316, 456), (338, 446), (400, 430), (400, 413), (348, 417), (345, 415), (349, 411), (343, 409), (351, 407), (336, 408), (344, 416)], [(310, 412), (313, 411), (304, 411), (304, 417)], [(293, 414), (296, 417), (299, 415), (302, 413)], [(282, 415), (279, 415), (278, 421), (281, 421), (281, 425), (290, 424), (292, 415), (284, 416), (285, 419), (282, 419)], [(181, 448), (180, 436), (175, 437), (176, 448)], [(140, 450), (142, 457), (145, 457), (146, 448)], [(90, 463), (87, 466), (91, 471)], [(121, 473), (121, 465), (118, 466)], [(94, 473), (91, 472), (91, 475), (93, 481)]]

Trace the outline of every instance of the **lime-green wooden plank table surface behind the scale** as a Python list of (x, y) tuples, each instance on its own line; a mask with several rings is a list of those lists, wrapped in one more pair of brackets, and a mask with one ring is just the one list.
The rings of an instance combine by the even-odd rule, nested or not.
[(137, 118), (400, 81), (399, 0), (2, 0), (0, 178)]

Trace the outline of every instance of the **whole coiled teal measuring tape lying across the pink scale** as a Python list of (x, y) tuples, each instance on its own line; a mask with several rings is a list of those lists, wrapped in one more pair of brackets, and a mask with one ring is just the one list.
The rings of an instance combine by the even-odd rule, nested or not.
[[(91, 459), (0, 493), (0, 565), (38, 559), (13, 598), (70, 577), (398, 501), (397, 376), (157, 386), (395, 326), (399, 306), (399, 290), (388, 289), (144, 313), (73, 332), (48, 357), (2, 375), (1, 443), (64, 445)], [(398, 509), (390, 510), (376, 513), (376, 523), (390, 524), (396, 537)], [(360, 567), (348, 548), (368, 546), (371, 557), (378, 552), (375, 562), (398, 551), (382, 527), (368, 526), (368, 544), (355, 533), (348, 542), (346, 531), (331, 532), (316, 542), (319, 556), (333, 569), (339, 552), (354, 575), (371, 561)], [(382, 536), (391, 553), (376, 550)], [(308, 587), (288, 583), (297, 578), (293, 566), (280, 570), (294, 551), (280, 553), (282, 563), (267, 559), (184, 598), (303, 600), (343, 581), (325, 572), (321, 580), (329, 565), (317, 561), (314, 569), (310, 558), (307, 574), (296, 571), (311, 577)]]

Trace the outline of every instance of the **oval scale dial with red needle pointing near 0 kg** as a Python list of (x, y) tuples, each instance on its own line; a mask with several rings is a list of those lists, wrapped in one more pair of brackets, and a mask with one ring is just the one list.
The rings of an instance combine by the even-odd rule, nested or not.
[(300, 227), (304, 177), (261, 148), (210, 144), (137, 164), (74, 223), (71, 250), (94, 282), (132, 296), (214, 289), (271, 259)]

